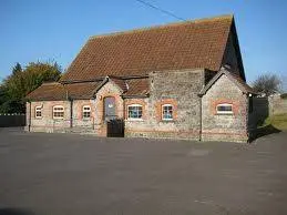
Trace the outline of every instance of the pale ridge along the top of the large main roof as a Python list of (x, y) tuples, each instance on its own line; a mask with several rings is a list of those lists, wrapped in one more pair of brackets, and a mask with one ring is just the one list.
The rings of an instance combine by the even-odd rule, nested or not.
[(116, 35), (122, 35), (122, 34), (130, 34), (130, 33), (148, 31), (148, 30), (154, 30), (154, 29), (164, 29), (164, 28), (168, 28), (168, 27), (177, 27), (177, 25), (183, 25), (183, 24), (187, 24), (187, 23), (203, 23), (203, 22), (219, 21), (219, 20), (233, 20), (233, 19), (234, 19), (234, 14), (229, 13), (229, 14), (223, 14), (223, 16), (216, 16), (216, 17), (209, 17), (209, 18), (186, 20), (186, 21), (181, 21), (181, 22), (170, 22), (166, 24), (156, 24), (156, 25), (152, 25), (152, 27), (143, 27), (143, 28), (131, 29), (131, 30), (126, 30), (126, 31), (115, 31), (112, 33), (92, 35), (89, 38), (89, 40), (106, 38), (106, 37), (116, 37)]

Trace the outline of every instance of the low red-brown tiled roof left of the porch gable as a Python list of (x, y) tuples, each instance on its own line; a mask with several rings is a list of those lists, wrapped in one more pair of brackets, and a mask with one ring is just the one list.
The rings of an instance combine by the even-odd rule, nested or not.
[(25, 98), (32, 101), (53, 101), (70, 99), (91, 99), (94, 89), (101, 82), (85, 82), (61, 84), (58, 82), (43, 83), (41, 86), (29, 93)]

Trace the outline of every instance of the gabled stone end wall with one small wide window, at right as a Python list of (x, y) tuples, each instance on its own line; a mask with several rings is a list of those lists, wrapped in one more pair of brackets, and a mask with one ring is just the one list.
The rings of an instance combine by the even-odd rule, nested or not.
[[(202, 139), (203, 141), (238, 141), (246, 142), (248, 102), (247, 95), (226, 75), (206, 92), (202, 100)], [(233, 114), (217, 114), (216, 106), (221, 103), (233, 105)]]

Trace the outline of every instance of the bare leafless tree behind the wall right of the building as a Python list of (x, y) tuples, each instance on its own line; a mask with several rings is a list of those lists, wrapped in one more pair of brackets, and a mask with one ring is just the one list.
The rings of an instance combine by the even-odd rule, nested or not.
[(258, 93), (264, 93), (267, 96), (279, 92), (281, 89), (281, 80), (276, 74), (260, 74), (254, 82), (253, 88)]

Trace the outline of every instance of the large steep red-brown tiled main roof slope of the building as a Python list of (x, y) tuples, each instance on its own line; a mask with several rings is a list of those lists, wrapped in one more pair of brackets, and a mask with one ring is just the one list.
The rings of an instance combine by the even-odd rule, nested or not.
[(232, 23), (233, 17), (224, 16), (92, 37), (61, 81), (178, 69), (218, 71)]

